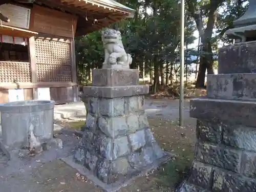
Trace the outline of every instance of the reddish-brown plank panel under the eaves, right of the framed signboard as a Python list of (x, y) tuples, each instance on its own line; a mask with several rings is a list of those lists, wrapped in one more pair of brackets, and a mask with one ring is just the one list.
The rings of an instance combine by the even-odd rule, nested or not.
[(73, 33), (75, 34), (77, 17), (34, 5), (30, 22), (31, 31), (72, 38)]

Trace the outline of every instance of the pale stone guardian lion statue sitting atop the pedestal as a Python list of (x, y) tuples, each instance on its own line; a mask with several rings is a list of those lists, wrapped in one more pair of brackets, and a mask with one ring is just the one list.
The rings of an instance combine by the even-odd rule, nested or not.
[(101, 38), (105, 52), (102, 68), (130, 69), (132, 56), (124, 50), (120, 31), (106, 29), (102, 31)]

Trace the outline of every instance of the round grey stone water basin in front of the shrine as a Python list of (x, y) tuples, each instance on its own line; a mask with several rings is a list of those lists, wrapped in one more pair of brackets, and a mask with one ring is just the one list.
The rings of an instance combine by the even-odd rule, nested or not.
[(35, 147), (53, 138), (54, 101), (2, 103), (0, 112), (2, 141), (5, 146)]

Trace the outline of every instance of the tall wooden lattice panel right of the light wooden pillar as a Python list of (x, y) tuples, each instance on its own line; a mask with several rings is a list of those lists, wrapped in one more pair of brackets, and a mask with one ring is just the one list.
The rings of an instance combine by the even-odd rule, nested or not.
[(71, 82), (71, 47), (65, 42), (35, 39), (38, 82)]

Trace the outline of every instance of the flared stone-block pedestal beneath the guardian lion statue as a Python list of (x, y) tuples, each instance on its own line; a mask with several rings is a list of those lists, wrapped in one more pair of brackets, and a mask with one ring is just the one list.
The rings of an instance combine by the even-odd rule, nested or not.
[(74, 158), (105, 186), (118, 186), (168, 155), (148, 126), (148, 86), (139, 85), (138, 70), (99, 69), (92, 75), (93, 86), (84, 87), (83, 95), (89, 105), (86, 129)]

